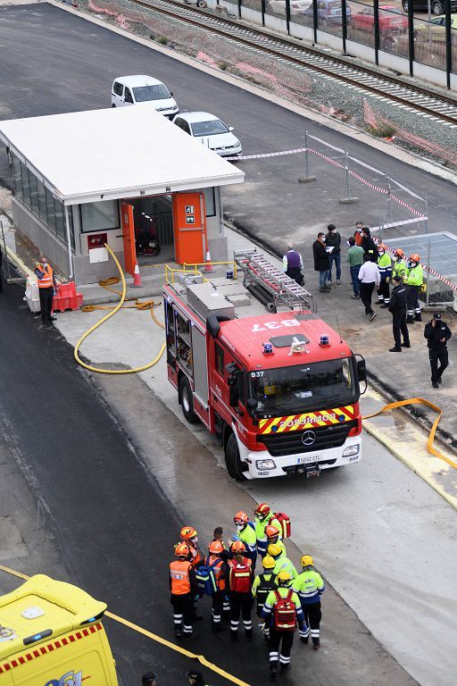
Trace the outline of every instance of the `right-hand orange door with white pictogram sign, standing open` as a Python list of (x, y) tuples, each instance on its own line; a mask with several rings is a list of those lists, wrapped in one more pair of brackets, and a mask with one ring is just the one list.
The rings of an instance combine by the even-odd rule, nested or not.
[(178, 264), (204, 262), (206, 222), (203, 193), (173, 195), (175, 259)]

